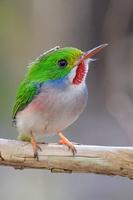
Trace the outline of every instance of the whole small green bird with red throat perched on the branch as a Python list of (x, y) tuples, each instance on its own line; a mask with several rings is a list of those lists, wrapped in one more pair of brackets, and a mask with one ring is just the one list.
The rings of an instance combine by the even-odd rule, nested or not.
[(86, 107), (88, 91), (85, 83), (91, 57), (107, 44), (83, 52), (59, 46), (50, 49), (28, 66), (13, 107), (13, 124), (19, 139), (32, 144), (34, 157), (39, 147), (36, 134), (56, 133), (60, 144), (67, 145), (73, 155), (74, 144), (62, 131), (78, 119)]

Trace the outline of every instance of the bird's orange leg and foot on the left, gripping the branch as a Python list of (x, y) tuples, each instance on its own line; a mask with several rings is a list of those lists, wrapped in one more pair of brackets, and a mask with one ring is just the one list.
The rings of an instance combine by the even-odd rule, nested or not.
[(31, 144), (32, 144), (32, 148), (33, 148), (33, 151), (34, 151), (34, 158), (39, 160), (39, 158), (38, 158), (38, 150), (41, 151), (41, 147), (37, 144), (37, 141), (36, 141), (36, 139), (34, 137), (33, 132), (31, 132)]

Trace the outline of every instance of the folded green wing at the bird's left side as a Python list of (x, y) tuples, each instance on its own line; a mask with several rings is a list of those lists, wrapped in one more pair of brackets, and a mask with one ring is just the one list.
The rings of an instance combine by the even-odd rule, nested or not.
[(37, 94), (38, 87), (34, 83), (23, 81), (17, 91), (16, 102), (12, 111), (12, 119), (15, 119), (17, 112), (23, 110)]

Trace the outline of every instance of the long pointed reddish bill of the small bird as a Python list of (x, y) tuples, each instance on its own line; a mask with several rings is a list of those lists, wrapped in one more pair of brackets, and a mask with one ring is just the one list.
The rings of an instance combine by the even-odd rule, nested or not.
[(108, 44), (101, 44), (98, 47), (95, 47), (94, 49), (91, 49), (83, 55), (83, 57), (80, 59), (80, 63), (84, 60), (87, 60), (94, 56), (95, 54), (99, 53), (104, 47), (108, 46)]

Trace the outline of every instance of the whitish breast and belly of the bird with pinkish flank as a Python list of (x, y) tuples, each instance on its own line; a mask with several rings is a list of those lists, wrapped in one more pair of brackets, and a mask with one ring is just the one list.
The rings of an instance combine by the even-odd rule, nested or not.
[(63, 88), (44, 86), (41, 93), (17, 114), (17, 128), (21, 133), (61, 131), (82, 113), (87, 96), (85, 83), (67, 84)]

